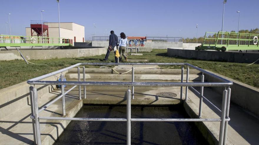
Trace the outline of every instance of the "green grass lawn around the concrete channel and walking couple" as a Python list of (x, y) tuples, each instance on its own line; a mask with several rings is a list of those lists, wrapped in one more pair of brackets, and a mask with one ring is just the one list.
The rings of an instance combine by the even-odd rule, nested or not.
[[(246, 66), (245, 63), (214, 62), (194, 59), (182, 59), (167, 57), (167, 50), (153, 50), (142, 52), (143, 56), (131, 56), (129, 59), (149, 59), (149, 62), (185, 62), (222, 74), (237, 81), (259, 88), (259, 64)], [(26, 64), (23, 60), (0, 61), (0, 89), (21, 83), (36, 76), (41, 76), (79, 62), (102, 62), (105, 55), (80, 58), (63, 58), (47, 60), (29, 60), (36, 64)], [(114, 54), (109, 56), (110, 62), (114, 62)], [(97, 66), (89, 66), (97, 67)], [(172, 66), (163, 66), (172, 67)], [(180, 66), (174, 66), (180, 69)]]

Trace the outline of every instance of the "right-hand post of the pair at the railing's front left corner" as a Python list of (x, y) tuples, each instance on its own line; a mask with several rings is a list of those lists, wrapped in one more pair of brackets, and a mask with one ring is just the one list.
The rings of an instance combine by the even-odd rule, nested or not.
[(37, 100), (37, 89), (33, 88), (33, 105), (34, 105), (34, 120), (35, 120), (35, 130), (36, 130), (36, 140), (37, 145), (41, 145), (41, 136), (40, 136), (40, 125), (39, 125), (39, 108)]

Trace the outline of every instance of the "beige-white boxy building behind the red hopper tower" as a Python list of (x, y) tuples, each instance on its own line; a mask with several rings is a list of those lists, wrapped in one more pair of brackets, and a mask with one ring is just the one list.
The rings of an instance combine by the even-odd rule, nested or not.
[[(49, 37), (59, 37), (59, 23), (47, 22), (44, 25), (49, 27)], [(31, 36), (31, 28), (26, 27), (26, 36)], [(73, 22), (60, 23), (60, 37), (70, 39), (73, 45), (74, 42), (84, 42), (84, 26)]]

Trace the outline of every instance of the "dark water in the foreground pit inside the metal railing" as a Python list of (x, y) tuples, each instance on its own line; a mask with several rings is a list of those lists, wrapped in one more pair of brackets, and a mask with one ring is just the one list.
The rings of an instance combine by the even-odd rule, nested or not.
[[(132, 118), (189, 118), (182, 105), (132, 106)], [(126, 118), (126, 106), (84, 105), (76, 117)], [(71, 121), (55, 145), (126, 144), (126, 122)], [(193, 122), (132, 122), (132, 144), (208, 144)]]

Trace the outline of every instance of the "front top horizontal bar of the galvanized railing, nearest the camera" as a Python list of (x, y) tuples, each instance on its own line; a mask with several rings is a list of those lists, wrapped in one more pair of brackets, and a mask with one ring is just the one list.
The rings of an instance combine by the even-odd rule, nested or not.
[(232, 82), (95, 82), (95, 81), (27, 81), (34, 85), (90, 85), (90, 86), (231, 86)]

